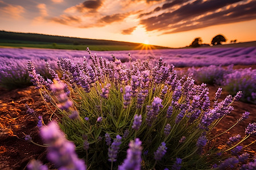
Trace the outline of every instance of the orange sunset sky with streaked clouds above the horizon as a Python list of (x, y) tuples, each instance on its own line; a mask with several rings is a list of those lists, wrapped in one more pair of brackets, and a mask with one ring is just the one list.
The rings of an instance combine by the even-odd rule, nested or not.
[(255, 0), (0, 0), (0, 30), (173, 48), (256, 40)]

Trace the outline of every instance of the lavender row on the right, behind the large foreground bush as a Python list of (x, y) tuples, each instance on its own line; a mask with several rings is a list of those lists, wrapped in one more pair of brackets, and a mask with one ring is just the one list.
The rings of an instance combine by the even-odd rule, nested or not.
[(224, 87), (232, 95), (235, 95), (237, 91), (242, 91), (241, 100), (256, 103), (256, 69), (251, 69), (251, 67), (234, 70), (233, 65), (226, 68), (210, 65), (198, 69), (191, 67), (187, 72), (181, 71), (180, 74), (192, 76), (197, 83), (204, 82)]

